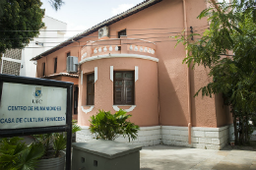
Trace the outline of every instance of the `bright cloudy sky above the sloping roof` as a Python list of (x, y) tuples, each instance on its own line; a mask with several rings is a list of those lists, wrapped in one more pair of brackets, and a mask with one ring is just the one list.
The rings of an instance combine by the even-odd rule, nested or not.
[[(120, 14), (143, 0), (64, 0), (65, 4), (55, 11), (48, 2), (41, 0), (45, 15), (67, 24), (65, 37), (71, 37), (88, 28)], [(79, 31), (69, 31), (79, 30)]]

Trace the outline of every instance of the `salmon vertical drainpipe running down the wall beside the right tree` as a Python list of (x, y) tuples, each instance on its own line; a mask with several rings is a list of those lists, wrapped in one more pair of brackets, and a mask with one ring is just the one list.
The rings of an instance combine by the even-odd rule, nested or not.
[[(187, 37), (187, 13), (186, 13), (186, 0), (183, 0), (183, 17), (184, 17), (184, 28), (185, 28), (185, 38)], [(187, 45), (186, 45), (187, 48)], [(188, 50), (186, 49), (186, 56)], [(191, 144), (191, 128), (192, 128), (192, 113), (191, 113), (191, 91), (190, 91), (190, 69), (187, 67), (187, 94), (188, 94), (188, 143)]]

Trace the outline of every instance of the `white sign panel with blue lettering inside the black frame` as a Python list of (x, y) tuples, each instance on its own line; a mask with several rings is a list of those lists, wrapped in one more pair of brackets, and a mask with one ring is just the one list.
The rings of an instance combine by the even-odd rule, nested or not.
[(67, 88), (3, 83), (0, 129), (66, 125)]

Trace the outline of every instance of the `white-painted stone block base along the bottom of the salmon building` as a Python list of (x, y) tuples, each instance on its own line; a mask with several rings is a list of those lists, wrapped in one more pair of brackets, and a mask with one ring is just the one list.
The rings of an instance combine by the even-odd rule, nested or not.
[[(89, 127), (81, 126), (82, 131), (77, 132), (76, 142), (88, 142), (96, 138), (92, 135)], [(157, 145), (160, 143), (166, 145), (188, 146), (203, 149), (222, 149), (231, 138), (233, 132), (232, 125), (222, 128), (203, 128), (194, 127), (191, 130), (192, 143), (188, 143), (188, 128), (176, 126), (154, 126), (141, 127), (138, 132), (138, 139), (132, 143), (143, 146)], [(129, 142), (122, 136), (115, 140), (116, 142)]]

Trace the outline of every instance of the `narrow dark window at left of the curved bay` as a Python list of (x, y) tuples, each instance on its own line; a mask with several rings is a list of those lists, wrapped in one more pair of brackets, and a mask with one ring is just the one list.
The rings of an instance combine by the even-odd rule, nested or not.
[(87, 76), (87, 105), (95, 105), (95, 74)]

